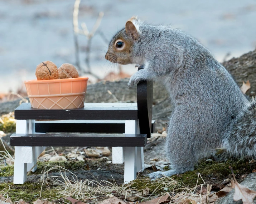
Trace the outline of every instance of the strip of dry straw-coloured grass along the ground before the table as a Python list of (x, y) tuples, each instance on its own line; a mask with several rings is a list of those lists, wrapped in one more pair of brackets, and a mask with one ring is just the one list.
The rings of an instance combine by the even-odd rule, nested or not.
[[(50, 168), (49, 168), (50, 167)], [(46, 170), (48, 169), (48, 170)], [(49, 176), (48, 173), (57, 170), (60, 176)], [(66, 172), (72, 174), (72, 176), (67, 176)], [(134, 201), (134, 200), (150, 200), (155, 197), (160, 197), (164, 194), (169, 194), (170, 203), (183, 203), (186, 200), (194, 200), (199, 203), (206, 203), (208, 195), (210, 194), (211, 187), (208, 187), (207, 193), (202, 194), (203, 184), (198, 184), (199, 179), (202, 179), (201, 175), (198, 174), (198, 182), (196, 186), (192, 189), (184, 187), (179, 184), (176, 180), (170, 177), (162, 177), (153, 181), (149, 179), (137, 178), (134, 181), (117, 185), (115, 180), (113, 182), (108, 182), (102, 180), (97, 182), (96, 180), (78, 180), (77, 176), (71, 171), (65, 169), (59, 165), (47, 165), (42, 169), (42, 187), (44, 185), (54, 186), (61, 197), (72, 197), (77, 200), (88, 201), (90, 203), (100, 203), (102, 200), (107, 199), (111, 194), (119, 197), (122, 200)], [(203, 180), (203, 179), (202, 179)], [(149, 190), (147, 187), (145, 189), (137, 188), (139, 183), (145, 182), (146, 185), (155, 186), (155, 189)], [(196, 192), (197, 187), (201, 187), (200, 193)], [(55, 190), (56, 190), (55, 188)], [(148, 193), (145, 193), (148, 192)], [(159, 193), (160, 192), (160, 193)]]

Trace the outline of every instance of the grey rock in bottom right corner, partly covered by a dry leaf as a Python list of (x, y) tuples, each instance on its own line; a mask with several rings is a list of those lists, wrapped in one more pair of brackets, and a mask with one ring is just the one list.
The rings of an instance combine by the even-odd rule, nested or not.
[[(249, 174), (241, 184), (247, 187), (250, 190), (256, 190), (256, 173)], [(225, 197), (220, 198), (216, 201), (216, 204), (242, 204), (242, 200), (234, 201), (233, 196), (235, 189), (231, 190)], [(253, 203), (256, 203), (256, 198), (253, 200)]]

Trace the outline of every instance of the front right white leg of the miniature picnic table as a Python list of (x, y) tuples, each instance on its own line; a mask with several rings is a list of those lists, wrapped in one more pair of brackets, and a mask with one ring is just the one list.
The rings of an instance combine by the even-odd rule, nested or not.
[[(137, 121), (125, 121), (125, 133), (137, 133)], [(125, 182), (136, 179), (137, 172), (137, 147), (124, 147), (125, 157)]]

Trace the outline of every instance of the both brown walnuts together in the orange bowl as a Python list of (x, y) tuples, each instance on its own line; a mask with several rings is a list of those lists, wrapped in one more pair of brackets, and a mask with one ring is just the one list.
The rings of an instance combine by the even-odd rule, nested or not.
[(77, 78), (78, 72), (76, 67), (68, 63), (64, 63), (59, 68), (57, 68), (53, 62), (44, 61), (37, 65), (35, 76), (37, 76), (37, 80)]

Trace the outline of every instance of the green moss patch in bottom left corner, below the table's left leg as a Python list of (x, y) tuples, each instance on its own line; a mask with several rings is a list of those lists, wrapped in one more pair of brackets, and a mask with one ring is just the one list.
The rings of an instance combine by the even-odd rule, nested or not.
[(2, 183), (0, 184), (0, 191), (2, 191), (1, 194), (4, 194), (3, 192), (8, 193), (12, 202), (23, 199), (25, 202), (31, 203), (37, 199), (44, 198), (52, 201), (61, 197), (60, 194), (57, 194), (55, 188), (49, 188), (45, 185), (42, 187), (42, 195), (40, 197), (41, 184), (29, 182), (25, 182), (24, 184)]

